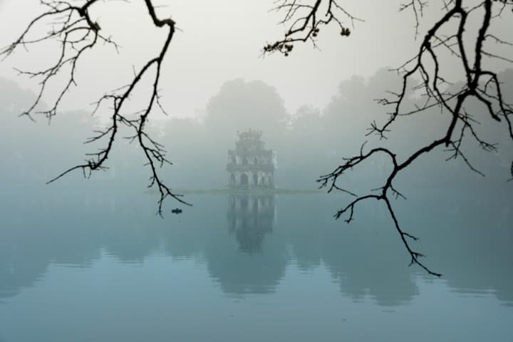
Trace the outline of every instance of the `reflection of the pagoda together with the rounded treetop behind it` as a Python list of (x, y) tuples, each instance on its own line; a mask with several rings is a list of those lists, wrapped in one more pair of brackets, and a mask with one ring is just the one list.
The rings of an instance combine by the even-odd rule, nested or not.
[(274, 195), (234, 194), (228, 202), (228, 230), (235, 235), (237, 246), (229, 235), (219, 234), (212, 240), (206, 251), (210, 276), (228, 294), (274, 291), (287, 259), (283, 237), (271, 234)]

